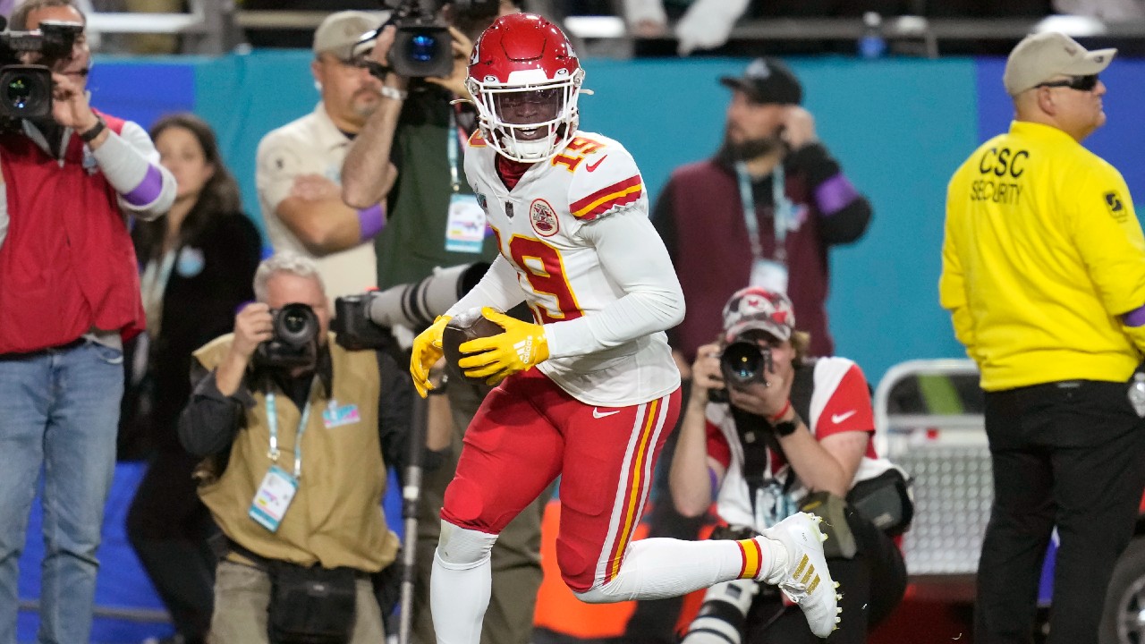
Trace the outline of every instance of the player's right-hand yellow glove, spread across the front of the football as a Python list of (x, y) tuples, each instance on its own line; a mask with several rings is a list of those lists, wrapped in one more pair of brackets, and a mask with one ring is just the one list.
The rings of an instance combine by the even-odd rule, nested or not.
[(548, 340), (540, 324), (521, 322), (488, 306), (481, 309), (481, 315), (499, 324), (505, 332), (469, 340), (458, 347), (467, 354), (457, 361), (467, 378), (485, 378), (485, 384), (496, 385), (548, 360)]

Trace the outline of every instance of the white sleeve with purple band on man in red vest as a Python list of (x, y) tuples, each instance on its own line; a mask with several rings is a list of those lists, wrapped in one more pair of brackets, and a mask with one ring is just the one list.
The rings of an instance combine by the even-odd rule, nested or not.
[(92, 156), (119, 193), (119, 205), (133, 215), (156, 219), (175, 203), (175, 178), (159, 164), (159, 152), (139, 124), (128, 120), (119, 134), (109, 132)]

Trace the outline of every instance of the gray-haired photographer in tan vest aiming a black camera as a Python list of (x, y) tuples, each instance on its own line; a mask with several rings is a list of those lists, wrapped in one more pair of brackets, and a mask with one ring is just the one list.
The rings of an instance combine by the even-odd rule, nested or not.
[[(313, 260), (264, 260), (254, 293), (234, 333), (195, 352), (179, 424), (188, 451), (213, 457), (199, 497), (227, 537), (208, 641), (337, 633), (381, 642), (370, 578), (397, 551), (380, 503), (386, 466), (401, 468), (408, 453), (409, 376), (385, 353), (331, 341)], [(316, 584), (327, 595), (307, 600)]]

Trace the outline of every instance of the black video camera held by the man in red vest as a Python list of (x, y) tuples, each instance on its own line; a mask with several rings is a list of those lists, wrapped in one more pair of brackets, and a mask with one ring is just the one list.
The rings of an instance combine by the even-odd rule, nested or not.
[[(42, 21), (35, 31), (7, 31), (0, 16), (0, 119), (45, 118), (52, 115), (52, 65), (71, 54), (84, 33), (80, 23)], [(39, 54), (38, 64), (24, 64), (22, 54)]]

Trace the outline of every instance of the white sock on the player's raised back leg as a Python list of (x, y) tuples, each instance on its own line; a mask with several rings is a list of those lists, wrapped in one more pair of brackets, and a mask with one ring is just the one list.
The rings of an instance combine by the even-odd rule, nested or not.
[[(764, 564), (772, 565), (779, 542), (759, 540)], [(740, 579), (744, 556), (735, 541), (633, 541), (613, 581), (578, 597), (590, 603), (663, 599)]]

